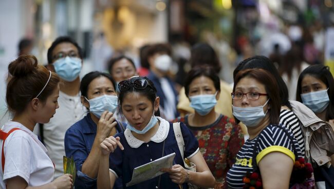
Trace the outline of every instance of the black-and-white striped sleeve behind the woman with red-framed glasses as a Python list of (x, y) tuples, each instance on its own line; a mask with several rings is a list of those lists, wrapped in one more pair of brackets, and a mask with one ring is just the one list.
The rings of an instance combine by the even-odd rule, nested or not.
[(305, 156), (304, 136), (302, 133), (300, 122), (293, 111), (288, 109), (281, 109), (280, 124), (287, 127), (297, 140), (299, 147), (302, 150), (303, 157)]

